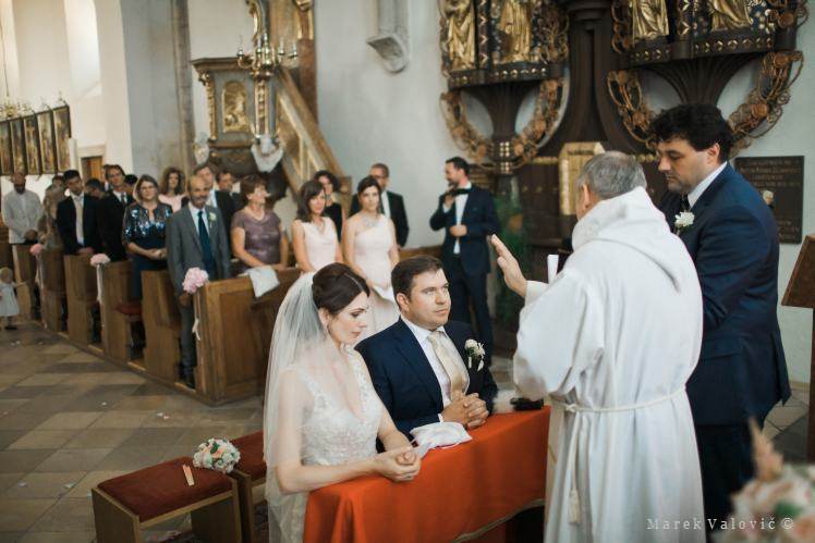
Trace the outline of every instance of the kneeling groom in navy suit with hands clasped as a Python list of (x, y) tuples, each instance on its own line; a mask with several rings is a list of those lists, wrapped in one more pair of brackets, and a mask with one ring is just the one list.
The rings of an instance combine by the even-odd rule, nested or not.
[(357, 346), (377, 394), (400, 432), (439, 421), (484, 424), (498, 386), (488, 355), (467, 354), (475, 335), (449, 321), (450, 292), (441, 262), (408, 258), (391, 272), (401, 318)]

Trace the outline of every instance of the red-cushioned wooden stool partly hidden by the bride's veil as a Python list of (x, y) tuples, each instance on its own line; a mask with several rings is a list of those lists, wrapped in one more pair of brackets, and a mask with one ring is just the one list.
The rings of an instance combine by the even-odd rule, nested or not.
[(238, 482), (238, 497), (241, 503), (241, 533), (244, 543), (259, 542), (255, 526), (254, 489), (266, 483), (266, 460), (264, 460), (264, 433), (255, 432), (232, 440), (232, 445), (241, 452), (241, 461), (235, 465), (230, 477)]

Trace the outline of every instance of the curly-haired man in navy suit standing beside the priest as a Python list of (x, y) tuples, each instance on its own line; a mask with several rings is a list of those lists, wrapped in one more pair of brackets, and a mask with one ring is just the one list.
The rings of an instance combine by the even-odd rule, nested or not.
[(672, 108), (652, 132), (668, 183), (659, 208), (702, 285), (704, 337), (688, 397), (705, 516), (720, 526), (730, 495), (753, 477), (747, 419), (763, 425), (790, 396), (776, 317), (778, 229), (757, 190), (728, 164), (733, 135), (715, 106)]

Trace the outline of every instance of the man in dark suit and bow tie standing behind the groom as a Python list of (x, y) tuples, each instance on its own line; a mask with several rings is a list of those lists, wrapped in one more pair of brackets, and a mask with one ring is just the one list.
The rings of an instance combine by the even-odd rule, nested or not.
[(470, 183), (470, 164), (461, 157), (445, 163), (448, 192), (430, 217), (433, 230), (445, 229), (441, 261), (450, 281), (454, 321), (471, 322), (473, 304), (478, 337), (492, 354), (492, 323), (487, 307), (487, 274), (490, 270), (487, 238), (500, 230), (492, 196)]

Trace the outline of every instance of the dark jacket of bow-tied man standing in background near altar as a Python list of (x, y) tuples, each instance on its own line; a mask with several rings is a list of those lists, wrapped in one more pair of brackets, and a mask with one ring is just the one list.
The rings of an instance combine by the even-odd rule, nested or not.
[[(455, 237), (450, 234), (450, 226), (455, 224), (455, 202), (449, 211), (445, 212), (445, 195), (439, 196), (439, 205), (436, 212), (430, 217), (433, 230), (445, 229), (445, 243), (441, 246), (441, 261), (445, 269), (449, 270), (453, 264), (453, 249)], [(467, 234), (460, 237), (460, 257), (464, 273), (467, 275), (486, 275), (489, 273), (489, 248), (487, 237), (497, 234), (500, 230), (498, 214), (492, 202), (492, 195), (483, 188), (473, 185), (464, 206), (464, 214), (461, 224), (467, 227)]]

